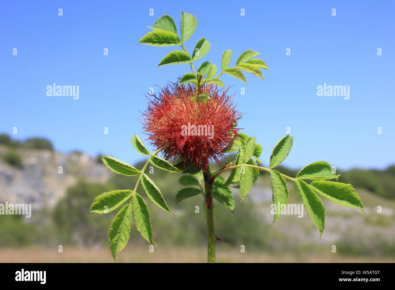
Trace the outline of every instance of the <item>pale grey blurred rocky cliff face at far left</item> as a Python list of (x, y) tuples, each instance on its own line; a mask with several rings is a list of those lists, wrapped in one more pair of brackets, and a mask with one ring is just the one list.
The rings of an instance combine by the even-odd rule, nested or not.
[[(0, 147), (0, 155), (9, 150)], [(107, 181), (112, 172), (84, 153), (18, 149), (23, 167), (0, 159), (0, 203), (32, 204), (32, 210), (53, 208), (79, 178)]]

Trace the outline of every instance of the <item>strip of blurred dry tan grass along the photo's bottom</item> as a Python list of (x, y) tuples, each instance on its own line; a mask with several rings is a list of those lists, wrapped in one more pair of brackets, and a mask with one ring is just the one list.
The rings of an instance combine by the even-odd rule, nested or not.
[[(177, 248), (156, 247), (154, 253), (149, 252), (149, 247), (127, 247), (122, 251), (116, 262), (126, 263), (191, 263), (206, 262), (205, 248)], [(233, 249), (218, 249), (217, 262), (223, 263), (271, 263), (271, 262), (333, 262), (333, 263), (371, 263), (371, 262), (395, 262), (394, 258), (363, 258), (353, 256), (341, 256), (338, 253), (314, 256), (298, 256), (287, 254), (270, 254), (265, 252), (241, 253)], [(64, 247), (63, 253), (58, 249), (44, 249), (40, 247), (26, 248), (2, 248), (0, 249), (0, 262), (32, 262), (32, 263), (113, 263), (114, 260), (106, 248), (75, 248)]]

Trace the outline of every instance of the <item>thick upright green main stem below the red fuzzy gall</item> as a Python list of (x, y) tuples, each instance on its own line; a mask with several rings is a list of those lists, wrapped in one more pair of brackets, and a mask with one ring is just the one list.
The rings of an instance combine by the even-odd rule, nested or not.
[(207, 262), (215, 263), (215, 247), (216, 247), (216, 236), (214, 228), (214, 203), (213, 203), (213, 183), (208, 182), (211, 177), (210, 169), (203, 172), (204, 176), (204, 209), (206, 215), (207, 224)]

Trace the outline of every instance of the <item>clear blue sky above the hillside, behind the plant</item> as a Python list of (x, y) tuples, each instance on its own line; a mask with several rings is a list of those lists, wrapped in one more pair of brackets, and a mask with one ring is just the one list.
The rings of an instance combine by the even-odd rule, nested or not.
[[(250, 73), (245, 73), (248, 85), (221, 78), (233, 85), (229, 92), (245, 113), (239, 126), (257, 137), (266, 165), (290, 127), (294, 144), (286, 166), (325, 160), (342, 169), (386, 168), (395, 163), (394, 8), (393, 1), (3, 0), (0, 132), (11, 135), (17, 127), (14, 138), (49, 138), (60, 152), (78, 149), (130, 163), (142, 160), (130, 138), (145, 137), (138, 122), (147, 106), (143, 94), (190, 72), (190, 66), (158, 68), (179, 47), (137, 43), (163, 14), (175, 19), (179, 32), (183, 9), (198, 19), (185, 42), (188, 52), (201, 37), (211, 43), (196, 67), (209, 61), (220, 68), (226, 49), (233, 50), (232, 66), (241, 52), (253, 49), (269, 67), (265, 82)], [(78, 85), (79, 99), (47, 96), (46, 87), (54, 82)], [(317, 96), (317, 86), (324, 83), (350, 86), (350, 99)]]

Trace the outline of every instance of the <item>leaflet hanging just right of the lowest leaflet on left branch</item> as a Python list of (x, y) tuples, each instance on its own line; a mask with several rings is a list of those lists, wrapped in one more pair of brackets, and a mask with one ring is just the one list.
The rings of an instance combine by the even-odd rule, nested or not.
[(141, 233), (143, 238), (150, 243), (155, 244), (152, 239), (152, 225), (147, 204), (145, 204), (145, 201), (138, 193), (133, 195), (132, 200), (134, 221), (136, 223), (137, 230)]

